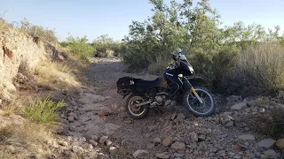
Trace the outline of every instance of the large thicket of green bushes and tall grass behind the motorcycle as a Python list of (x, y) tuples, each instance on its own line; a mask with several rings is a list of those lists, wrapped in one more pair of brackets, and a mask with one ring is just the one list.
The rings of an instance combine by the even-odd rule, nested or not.
[[(180, 48), (192, 54), (188, 59), (195, 72), (211, 87), (283, 87), (284, 49), (280, 45), (284, 36), (280, 36), (279, 26), (268, 32), (261, 25), (245, 26), (243, 22), (221, 28), (220, 16), (208, 0), (195, 6), (189, 1), (164, 4), (150, 0), (150, 4), (154, 5), (154, 15), (143, 22), (133, 21), (123, 40), (123, 62), (130, 70), (160, 73), (164, 64), (159, 58)], [(275, 42), (280, 44), (268, 44)]]

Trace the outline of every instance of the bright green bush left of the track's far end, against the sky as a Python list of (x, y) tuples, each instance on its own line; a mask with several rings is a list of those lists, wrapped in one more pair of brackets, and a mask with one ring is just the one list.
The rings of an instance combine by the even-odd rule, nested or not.
[(83, 38), (73, 37), (69, 35), (66, 42), (61, 42), (62, 46), (67, 47), (69, 51), (82, 59), (88, 59), (92, 57), (95, 49), (88, 43), (87, 36)]

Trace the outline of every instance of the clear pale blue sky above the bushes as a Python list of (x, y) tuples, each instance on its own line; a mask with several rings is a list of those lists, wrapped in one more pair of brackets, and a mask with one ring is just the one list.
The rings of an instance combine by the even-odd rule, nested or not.
[[(165, 0), (169, 1), (169, 0)], [(177, 2), (180, 0), (177, 0)], [(284, 29), (284, 0), (211, 0), (224, 25), (243, 21)], [(29, 22), (55, 28), (59, 41), (68, 33), (90, 42), (101, 34), (122, 40), (132, 20), (143, 21), (151, 16), (148, 0), (0, 0), (0, 14), (9, 22), (27, 18)]]

